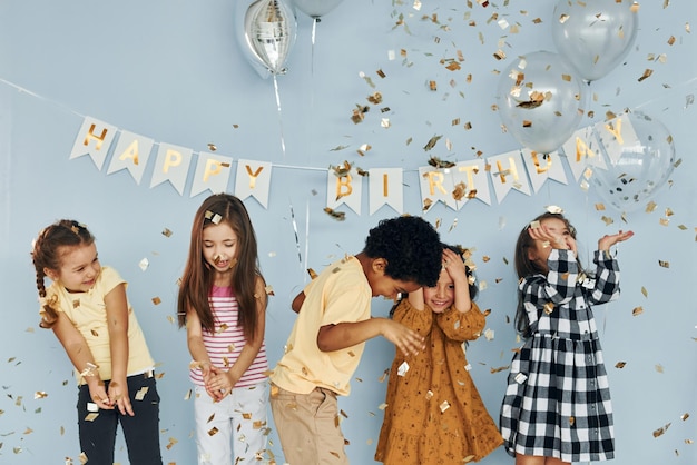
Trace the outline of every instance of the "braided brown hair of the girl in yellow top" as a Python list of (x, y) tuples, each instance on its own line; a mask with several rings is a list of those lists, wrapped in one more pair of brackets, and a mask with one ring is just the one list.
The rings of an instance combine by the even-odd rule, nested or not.
[(94, 243), (95, 237), (87, 227), (73, 219), (61, 219), (39, 233), (31, 249), (31, 261), (37, 273), (37, 289), (42, 307), (40, 327), (51, 328), (58, 320), (58, 313), (55, 308), (58, 303), (46, 300), (45, 270), (60, 269), (61, 247), (90, 246)]

